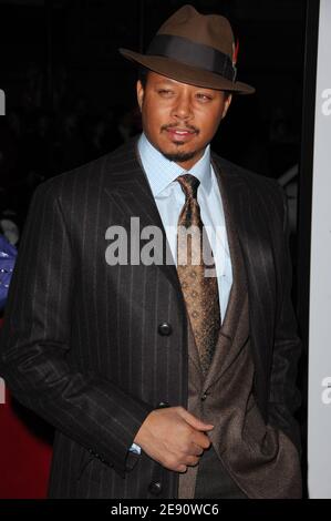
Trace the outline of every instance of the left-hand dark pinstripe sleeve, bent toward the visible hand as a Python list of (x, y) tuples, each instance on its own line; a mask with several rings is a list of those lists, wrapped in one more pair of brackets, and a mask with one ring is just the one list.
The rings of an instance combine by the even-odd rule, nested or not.
[(124, 476), (153, 407), (69, 362), (75, 257), (52, 188), (52, 180), (42, 183), (30, 206), (1, 330), (0, 374), (19, 401)]

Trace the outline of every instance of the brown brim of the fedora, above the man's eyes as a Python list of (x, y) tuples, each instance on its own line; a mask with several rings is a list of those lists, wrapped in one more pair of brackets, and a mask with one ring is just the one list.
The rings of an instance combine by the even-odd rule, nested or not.
[(128, 49), (118, 49), (121, 54), (128, 60), (157, 72), (173, 80), (188, 83), (190, 85), (204, 86), (206, 89), (216, 89), (221, 91), (235, 92), (237, 94), (252, 94), (255, 88), (240, 81), (231, 82), (215, 72), (205, 71), (176, 60), (139, 54)]

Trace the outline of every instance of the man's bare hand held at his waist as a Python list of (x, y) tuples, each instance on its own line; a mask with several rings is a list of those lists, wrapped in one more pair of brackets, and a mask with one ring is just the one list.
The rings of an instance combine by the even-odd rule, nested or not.
[(214, 429), (183, 407), (168, 407), (149, 412), (134, 442), (163, 467), (185, 472), (194, 467), (210, 446), (205, 431)]

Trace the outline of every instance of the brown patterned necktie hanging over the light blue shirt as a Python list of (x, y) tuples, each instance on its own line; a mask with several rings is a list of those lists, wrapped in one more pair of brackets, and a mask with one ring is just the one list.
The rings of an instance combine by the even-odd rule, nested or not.
[[(177, 272), (199, 351), (204, 375), (207, 374), (220, 327), (217, 277), (211, 247), (200, 217), (197, 190), (200, 184), (194, 175), (176, 178), (186, 201), (178, 218)], [(206, 256), (209, 260), (206, 263)], [(214, 276), (206, 276), (206, 267)], [(210, 272), (209, 272), (210, 275)]]

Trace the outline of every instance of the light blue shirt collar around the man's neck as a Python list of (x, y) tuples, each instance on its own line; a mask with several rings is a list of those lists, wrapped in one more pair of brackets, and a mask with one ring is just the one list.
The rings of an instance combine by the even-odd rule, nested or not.
[[(138, 152), (154, 197), (159, 195), (178, 175), (186, 172), (158, 152), (144, 133), (138, 140)], [(195, 175), (209, 194), (211, 188), (210, 145), (206, 147), (203, 157), (187, 172)]]

